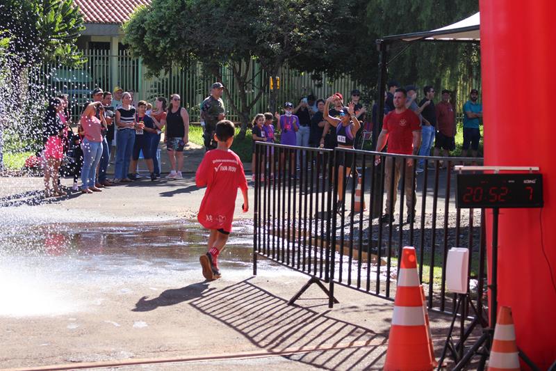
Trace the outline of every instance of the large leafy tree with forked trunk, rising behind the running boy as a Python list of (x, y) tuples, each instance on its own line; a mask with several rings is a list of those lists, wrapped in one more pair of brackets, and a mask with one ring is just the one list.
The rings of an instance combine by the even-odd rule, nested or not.
[[(251, 110), (268, 88), (268, 77), (288, 63), (306, 72), (336, 73), (343, 49), (329, 47), (352, 18), (339, 0), (154, 0), (136, 10), (124, 25), (124, 42), (153, 72), (184, 66), (195, 58), (221, 79), (224, 65), (234, 75), (239, 95), (228, 104), (242, 121), (245, 135)], [(336, 58), (338, 56), (338, 58)], [(345, 55), (343, 55), (345, 56)], [(259, 74), (250, 70), (259, 61)], [(250, 99), (247, 91), (257, 95)]]

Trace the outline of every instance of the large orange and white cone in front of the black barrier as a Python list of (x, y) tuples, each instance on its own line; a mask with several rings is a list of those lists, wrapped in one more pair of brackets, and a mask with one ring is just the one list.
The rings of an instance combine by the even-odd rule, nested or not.
[(432, 370), (434, 365), (429, 349), (415, 248), (404, 247), (400, 260), (384, 370)]

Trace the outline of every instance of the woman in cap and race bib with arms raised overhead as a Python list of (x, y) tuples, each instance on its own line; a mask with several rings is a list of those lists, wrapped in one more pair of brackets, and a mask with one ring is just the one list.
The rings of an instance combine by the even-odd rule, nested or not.
[[(328, 106), (330, 102), (335, 102), (338, 100), (338, 95), (332, 95), (328, 97), (325, 103), (325, 111), (323, 116), (327, 121), (325, 125), (325, 132), (330, 128), (330, 126), (336, 129), (336, 141), (338, 142), (339, 148), (350, 148), (353, 149), (355, 143), (355, 134), (361, 128), (361, 124), (357, 117), (355, 116), (354, 103), (350, 102), (347, 107), (343, 107), (339, 113), (339, 118), (334, 118), (329, 115)], [(323, 140), (321, 141), (321, 143)], [(353, 164), (353, 154), (351, 152), (339, 152), (341, 156), (338, 161), (338, 211), (340, 210), (339, 205), (341, 205), (343, 200), (343, 187), (345, 182), (345, 175), (349, 174), (352, 170)]]

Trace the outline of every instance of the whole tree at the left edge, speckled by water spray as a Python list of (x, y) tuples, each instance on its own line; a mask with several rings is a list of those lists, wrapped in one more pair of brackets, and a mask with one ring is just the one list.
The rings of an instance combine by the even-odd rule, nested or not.
[[(19, 130), (12, 137), (33, 139), (20, 136), (27, 132), (23, 127), (38, 125), (28, 112), (38, 113), (46, 97), (34, 99), (37, 89), (24, 83), (26, 71), (45, 61), (71, 66), (83, 63), (76, 46), (79, 33), (85, 29), (83, 16), (72, 0), (2, 0), (0, 13), (0, 86), (4, 95), (0, 102), (0, 141), (2, 123), (8, 121), (10, 130)], [(29, 92), (33, 98), (28, 97)], [(2, 147), (0, 143), (0, 168)]]

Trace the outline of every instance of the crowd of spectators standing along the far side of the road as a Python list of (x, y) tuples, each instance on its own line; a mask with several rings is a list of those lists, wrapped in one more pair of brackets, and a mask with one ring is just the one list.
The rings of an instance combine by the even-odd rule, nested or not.
[[(204, 147), (213, 150), (218, 145), (215, 139), (216, 124), (224, 120), (226, 109), (222, 100), (224, 86), (216, 82), (211, 93), (200, 104), (201, 125), (204, 130)], [(423, 97), (418, 100), (418, 92)], [(384, 95), (384, 116), (379, 118), (379, 104), (370, 107), (370, 114), (361, 102), (361, 92), (352, 90), (347, 104), (341, 93), (319, 99), (310, 94), (300, 100), (285, 102), (281, 113), (257, 113), (252, 120), (252, 180), (255, 180), (255, 142), (280, 143), (311, 148), (357, 148), (370, 139), (373, 127), (380, 127), (377, 151), (384, 148), (396, 155), (450, 156), (455, 150), (456, 110), (452, 104), (452, 92), (441, 90), (441, 100), (434, 102), (436, 90), (425, 86), (422, 90), (409, 85), (402, 88), (397, 81), (389, 81)], [(479, 92), (472, 89), (469, 100), (464, 104), (462, 157), (477, 157), (480, 141), (482, 105), (478, 102)], [(58, 95), (49, 101), (44, 117), (42, 163), (44, 165), (45, 196), (64, 196), (67, 189), (60, 186), (60, 171), (74, 177), (72, 190), (84, 194), (100, 192), (120, 182), (133, 182), (138, 177), (138, 160), (145, 160), (150, 180), (161, 177), (160, 150), (161, 134), (170, 160), (170, 173), (165, 178), (181, 179), (183, 150), (188, 143), (189, 114), (181, 104), (181, 97), (172, 94), (170, 99), (157, 97), (153, 104), (145, 100), (136, 102), (133, 91), (124, 91), (115, 86), (112, 91), (95, 88), (90, 102), (76, 123), (76, 132), (71, 128), (70, 107), (67, 95)], [(347, 152), (346, 152), (347, 153)], [(274, 157), (274, 148), (268, 148), (270, 180), (275, 173), (276, 161), (281, 168), (288, 168), (295, 176), (302, 163), (304, 151), (280, 151)], [(351, 172), (352, 157), (343, 156), (334, 176), (345, 179)], [(377, 159), (378, 160), (378, 159)], [(112, 179), (107, 169), (114, 164)], [(387, 157), (385, 168), (386, 209), (383, 222), (392, 220), (390, 205), (395, 205), (398, 182), (402, 167), (407, 177), (405, 200), (408, 221), (415, 214), (415, 176), (424, 171), (425, 161), (404, 161), (402, 157)], [(264, 166), (265, 164), (261, 164)], [(443, 166), (446, 166), (443, 164)], [(409, 168), (409, 171), (407, 169)], [(70, 169), (67, 171), (67, 169)], [(337, 170), (337, 173), (336, 173)], [(357, 171), (356, 171), (357, 172)], [(263, 168), (259, 173), (264, 173)], [(81, 182), (79, 182), (81, 180)], [(264, 179), (261, 179), (264, 180)], [(342, 186), (339, 182), (338, 186)], [(392, 187), (391, 187), (392, 186)], [(341, 192), (338, 194), (341, 200)]]

